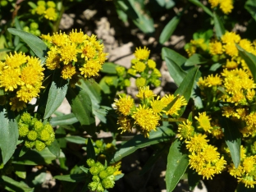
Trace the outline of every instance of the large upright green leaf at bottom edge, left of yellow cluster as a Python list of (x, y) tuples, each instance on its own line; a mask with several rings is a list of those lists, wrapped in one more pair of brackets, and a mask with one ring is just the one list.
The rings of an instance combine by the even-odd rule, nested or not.
[(175, 189), (189, 165), (189, 158), (187, 154), (181, 152), (181, 147), (181, 141), (176, 139), (176, 141), (171, 144), (168, 153), (166, 172), (167, 192), (171, 192)]

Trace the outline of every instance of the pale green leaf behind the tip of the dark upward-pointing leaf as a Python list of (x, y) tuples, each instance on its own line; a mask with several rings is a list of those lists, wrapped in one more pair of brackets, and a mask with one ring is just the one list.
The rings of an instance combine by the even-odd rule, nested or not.
[(182, 80), (184, 80), (187, 72), (181, 69), (181, 66), (176, 64), (171, 58), (165, 57), (165, 61), (167, 62), (167, 68), (171, 75), (171, 78), (174, 80), (177, 86), (181, 85)]

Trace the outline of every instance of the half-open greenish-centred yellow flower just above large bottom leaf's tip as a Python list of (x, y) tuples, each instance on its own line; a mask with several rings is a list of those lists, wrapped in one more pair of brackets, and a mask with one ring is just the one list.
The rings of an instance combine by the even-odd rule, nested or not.
[(178, 135), (177, 137), (182, 139), (190, 139), (194, 135), (194, 126), (190, 120), (182, 121), (178, 126)]

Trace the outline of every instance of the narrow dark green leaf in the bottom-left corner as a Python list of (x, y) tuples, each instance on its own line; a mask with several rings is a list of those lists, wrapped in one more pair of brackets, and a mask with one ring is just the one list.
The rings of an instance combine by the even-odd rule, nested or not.
[(23, 182), (18, 182), (11, 179), (8, 176), (2, 176), (2, 180), (4, 181), (6, 187), (16, 192), (32, 192), (34, 188), (30, 188), (28, 185), (25, 185)]

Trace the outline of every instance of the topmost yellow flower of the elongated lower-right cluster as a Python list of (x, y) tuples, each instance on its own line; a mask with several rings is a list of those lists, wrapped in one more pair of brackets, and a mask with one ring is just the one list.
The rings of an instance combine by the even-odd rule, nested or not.
[(194, 135), (194, 137), (191, 137), (190, 140), (185, 141), (186, 149), (189, 149), (190, 152), (200, 152), (209, 141), (208, 139), (205, 139), (206, 137), (206, 135), (202, 134)]

